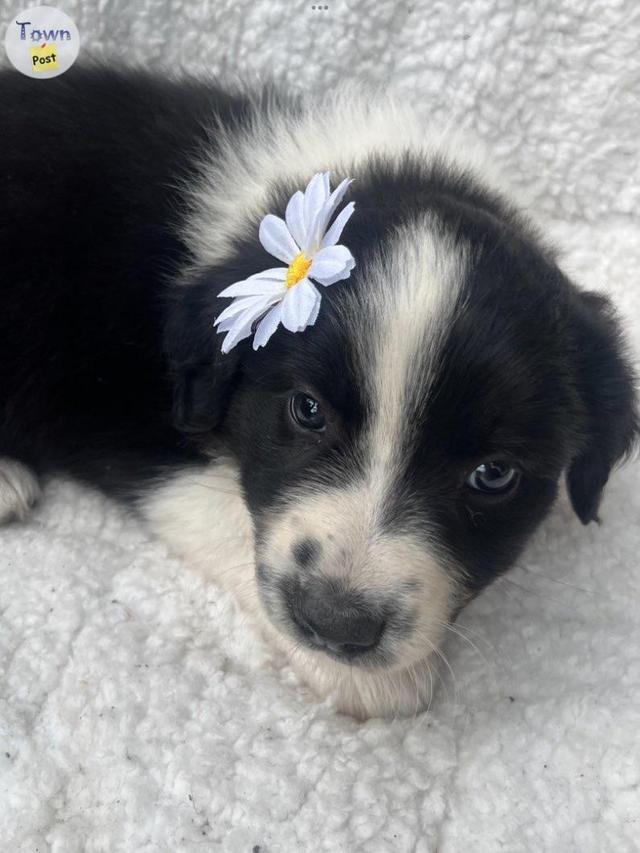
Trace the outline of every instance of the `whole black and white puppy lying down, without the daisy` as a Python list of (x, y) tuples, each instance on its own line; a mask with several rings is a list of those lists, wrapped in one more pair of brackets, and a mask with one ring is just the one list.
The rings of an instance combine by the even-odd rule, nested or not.
[[(586, 524), (632, 448), (607, 299), (482, 156), (385, 95), (76, 67), (5, 72), (0, 97), (0, 517), (55, 472), (96, 484), (318, 694), (418, 710), (448, 625), (560, 478)], [(261, 222), (326, 172), (352, 179), (355, 266), (303, 331), (223, 352), (220, 292), (277, 267)]]

